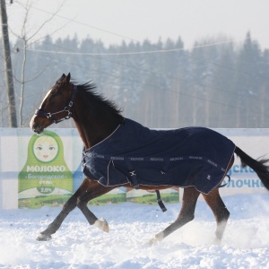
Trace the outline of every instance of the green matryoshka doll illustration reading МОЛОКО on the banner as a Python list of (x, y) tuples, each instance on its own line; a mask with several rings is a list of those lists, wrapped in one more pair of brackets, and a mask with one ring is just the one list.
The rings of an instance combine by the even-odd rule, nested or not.
[(19, 207), (65, 203), (73, 191), (73, 174), (56, 133), (46, 130), (30, 138), (27, 161), (18, 177)]

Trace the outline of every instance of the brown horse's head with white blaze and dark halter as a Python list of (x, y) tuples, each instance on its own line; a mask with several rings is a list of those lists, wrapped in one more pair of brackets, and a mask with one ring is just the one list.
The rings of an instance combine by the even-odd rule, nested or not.
[(70, 83), (70, 74), (63, 74), (48, 91), (39, 109), (30, 120), (30, 128), (35, 133), (42, 133), (52, 123), (58, 123), (72, 117), (76, 86)]

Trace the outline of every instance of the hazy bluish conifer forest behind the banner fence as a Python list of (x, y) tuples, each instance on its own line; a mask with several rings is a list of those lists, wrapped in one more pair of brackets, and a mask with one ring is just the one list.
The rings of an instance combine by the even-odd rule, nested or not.
[[(125, 117), (152, 128), (269, 127), (269, 49), (262, 49), (249, 32), (242, 44), (222, 41), (199, 40), (191, 49), (184, 48), (180, 38), (105, 47), (90, 37), (53, 40), (48, 36), (26, 49), (26, 62), (18, 41), (11, 47), (16, 104), (21, 98), (24, 104), (22, 127), (29, 126), (50, 87), (69, 72), (75, 82), (95, 82)], [(2, 64), (0, 74), (0, 126), (6, 127)], [(68, 121), (58, 126), (74, 125)]]

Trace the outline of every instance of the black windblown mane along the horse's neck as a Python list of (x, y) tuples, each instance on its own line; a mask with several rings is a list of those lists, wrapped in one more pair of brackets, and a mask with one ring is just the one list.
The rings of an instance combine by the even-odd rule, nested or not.
[(94, 106), (107, 108), (111, 113), (121, 115), (122, 109), (118, 108), (114, 101), (108, 100), (100, 91), (97, 91), (95, 83), (86, 82), (77, 84), (77, 89), (82, 93), (83, 98), (89, 101), (89, 104), (91, 103), (91, 105)]

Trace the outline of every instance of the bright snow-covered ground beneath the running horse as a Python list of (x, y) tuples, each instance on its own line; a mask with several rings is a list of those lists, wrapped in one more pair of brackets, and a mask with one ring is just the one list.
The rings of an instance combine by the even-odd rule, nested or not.
[(269, 268), (269, 194), (224, 197), (230, 221), (212, 245), (213, 213), (198, 201), (195, 220), (156, 246), (146, 241), (178, 215), (180, 204), (109, 204), (91, 210), (109, 223), (104, 233), (74, 210), (48, 242), (35, 238), (60, 208), (0, 211), (0, 268)]

